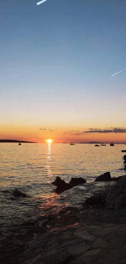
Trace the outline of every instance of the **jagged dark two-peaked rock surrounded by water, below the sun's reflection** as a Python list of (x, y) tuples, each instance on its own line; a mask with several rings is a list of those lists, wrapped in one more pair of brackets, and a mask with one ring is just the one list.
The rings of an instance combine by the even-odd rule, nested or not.
[(77, 186), (78, 184), (86, 183), (86, 180), (79, 177), (79, 178), (72, 178), (69, 183), (65, 183), (64, 180), (61, 180), (60, 177), (56, 177), (56, 180), (52, 183), (57, 187), (57, 192), (61, 193), (68, 189), (73, 188), (74, 186)]

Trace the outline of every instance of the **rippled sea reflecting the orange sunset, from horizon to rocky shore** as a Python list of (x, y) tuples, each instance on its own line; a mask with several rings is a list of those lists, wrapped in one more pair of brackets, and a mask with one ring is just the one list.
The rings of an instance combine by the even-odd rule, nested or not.
[[(56, 212), (63, 206), (79, 206), (84, 199), (110, 183), (93, 183), (95, 177), (110, 171), (112, 177), (124, 175), (124, 145), (96, 148), (93, 144), (0, 144), (0, 219), (34, 217)], [(56, 176), (66, 182), (84, 177), (86, 184), (62, 194), (51, 184)], [(112, 183), (113, 184), (113, 183)], [(15, 188), (28, 194), (15, 199)]]

